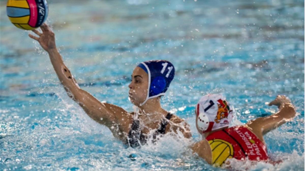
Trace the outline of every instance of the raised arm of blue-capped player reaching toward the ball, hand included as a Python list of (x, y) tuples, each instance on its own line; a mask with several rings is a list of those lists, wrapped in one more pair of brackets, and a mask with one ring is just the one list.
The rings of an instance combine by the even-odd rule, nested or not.
[[(39, 37), (31, 34), (29, 34), (29, 37), (37, 40), (41, 47), (48, 52), (59, 81), (63, 84), (63, 87), (68, 93), (69, 97), (76, 101), (89, 117), (98, 123), (109, 127), (113, 133), (117, 134), (118, 132), (123, 131), (117, 129), (123, 129), (121, 126), (124, 125), (126, 120), (124, 123), (122, 123), (121, 118), (124, 115), (129, 115), (129, 113), (118, 106), (108, 103), (101, 103), (90, 93), (81, 89), (76, 80), (73, 78), (70, 70), (63, 63), (63, 58), (56, 48), (55, 35), (53, 31), (48, 27), (47, 24), (43, 24), (41, 26), (41, 30), (42, 33), (38, 32), (37, 30), (33, 30), (33, 32)], [(113, 130), (114, 128), (116, 130)]]

